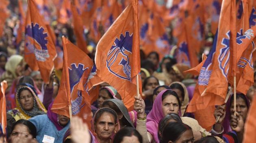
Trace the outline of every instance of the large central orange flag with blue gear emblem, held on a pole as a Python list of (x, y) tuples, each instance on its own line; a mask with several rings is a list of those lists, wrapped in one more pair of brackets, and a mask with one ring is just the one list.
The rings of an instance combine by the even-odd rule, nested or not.
[[(100, 39), (95, 64), (98, 76), (117, 89), (124, 105), (132, 109), (140, 73), (138, 0), (132, 0)], [(141, 92), (141, 80), (139, 87)]]

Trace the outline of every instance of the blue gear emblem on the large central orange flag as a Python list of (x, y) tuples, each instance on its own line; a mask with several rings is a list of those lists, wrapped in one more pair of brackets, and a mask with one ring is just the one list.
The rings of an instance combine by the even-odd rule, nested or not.
[[(106, 66), (115, 76), (131, 81), (131, 66), (129, 57), (132, 54), (132, 34), (126, 32), (116, 38), (108, 51)], [(122, 70), (120, 70), (122, 69)]]

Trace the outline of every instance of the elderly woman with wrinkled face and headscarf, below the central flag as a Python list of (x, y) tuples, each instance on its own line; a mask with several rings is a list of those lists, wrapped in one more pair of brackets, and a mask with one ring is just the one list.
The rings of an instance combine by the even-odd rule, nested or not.
[(94, 115), (91, 127), (95, 143), (112, 143), (119, 130), (117, 114), (113, 109), (100, 108)]

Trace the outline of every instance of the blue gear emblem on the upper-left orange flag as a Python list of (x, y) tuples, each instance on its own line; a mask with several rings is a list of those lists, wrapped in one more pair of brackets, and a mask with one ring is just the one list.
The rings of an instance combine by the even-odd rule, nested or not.
[[(31, 27), (32, 26), (32, 27)], [(25, 30), (25, 36), (27, 39), (26, 47), (30, 53), (35, 53), (37, 61), (46, 61), (50, 57), (47, 49), (47, 33), (43, 33), (43, 27), (39, 27), (37, 23), (31, 23), (31, 26), (28, 25)], [(30, 54), (25, 53), (25, 54)]]

